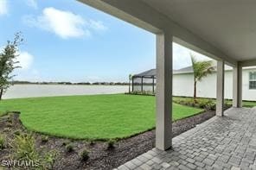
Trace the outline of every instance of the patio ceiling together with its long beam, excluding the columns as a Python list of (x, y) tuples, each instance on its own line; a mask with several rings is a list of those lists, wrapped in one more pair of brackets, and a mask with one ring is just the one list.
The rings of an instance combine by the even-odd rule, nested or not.
[(256, 65), (254, 0), (80, 0), (230, 66)]

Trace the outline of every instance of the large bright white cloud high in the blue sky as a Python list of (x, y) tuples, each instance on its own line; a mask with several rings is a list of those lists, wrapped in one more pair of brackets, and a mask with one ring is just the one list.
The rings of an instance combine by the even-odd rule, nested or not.
[(91, 30), (106, 30), (99, 21), (85, 20), (70, 11), (49, 7), (43, 9), (41, 16), (24, 16), (23, 22), (31, 27), (42, 28), (63, 39), (90, 36)]

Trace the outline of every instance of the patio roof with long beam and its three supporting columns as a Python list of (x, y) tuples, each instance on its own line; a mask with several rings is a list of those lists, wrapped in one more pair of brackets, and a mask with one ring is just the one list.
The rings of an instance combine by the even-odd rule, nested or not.
[(173, 41), (217, 60), (217, 116), (223, 116), (224, 65), (233, 66), (233, 106), (241, 107), (242, 67), (256, 65), (255, 0), (79, 1), (157, 35), (156, 148), (172, 145)]

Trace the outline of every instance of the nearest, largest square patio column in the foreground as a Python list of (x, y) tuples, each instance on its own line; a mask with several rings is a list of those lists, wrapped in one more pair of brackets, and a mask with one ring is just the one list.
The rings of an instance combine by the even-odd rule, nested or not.
[(172, 35), (157, 35), (156, 148), (166, 150), (172, 139)]

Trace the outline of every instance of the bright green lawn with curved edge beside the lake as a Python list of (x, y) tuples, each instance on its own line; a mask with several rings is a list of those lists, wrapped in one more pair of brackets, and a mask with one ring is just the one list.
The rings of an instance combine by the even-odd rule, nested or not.
[[(75, 139), (110, 139), (135, 135), (155, 126), (155, 97), (93, 95), (7, 99), (0, 112), (19, 110), (22, 123), (42, 133)], [(174, 120), (202, 110), (173, 104)]]

